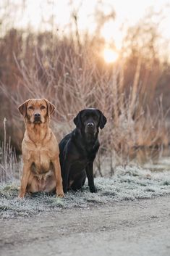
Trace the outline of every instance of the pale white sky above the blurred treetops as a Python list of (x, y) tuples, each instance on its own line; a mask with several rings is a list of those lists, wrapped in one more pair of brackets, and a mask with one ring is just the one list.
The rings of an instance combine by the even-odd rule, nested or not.
[[(11, 0), (11, 2), (15, 4), (12, 7), (13, 11), (15, 8), (15, 12), (13, 14), (11, 12), (10, 15), (14, 26), (18, 28), (27, 28), (29, 25), (34, 30), (51, 30), (51, 25), (49, 25), (51, 23), (48, 21), (52, 17), (55, 28), (65, 32), (69, 29), (67, 25), (71, 20), (72, 12), (79, 10), (79, 29), (93, 33), (96, 28), (95, 7), (100, 0)], [(23, 9), (17, 7), (21, 3), (22, 5), (24, 3), (24, 12)], [(143, 20), (150, 8), (155, 12), (162, 11), (163, 20), (158, 24), (158, 29), (163, 38), (170, 39), (170, 0), (104, 0), (103, 3), (98, 4), (98, 10), (106, 15), (114, 10), (116, 17), (103, 25), (101, 36), (106, 41), (114, 40), (117, 49), (122, 46), (122, 38), (127, 28)], [(155, 21), (158, 22), (158, 20)]]

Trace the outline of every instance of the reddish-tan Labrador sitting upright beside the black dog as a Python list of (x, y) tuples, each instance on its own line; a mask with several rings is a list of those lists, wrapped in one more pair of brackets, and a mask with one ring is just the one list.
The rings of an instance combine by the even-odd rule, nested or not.
[(19, 197), (24, 197), (26, 192), (51, 192), (55, 189), (58, 197), (64, 197), (59, 145), (48, 127), (54, 105), (46, 99), (28, 99), (19, 110), (25, 118), (26, 128), (22, 141), (23, 171)]

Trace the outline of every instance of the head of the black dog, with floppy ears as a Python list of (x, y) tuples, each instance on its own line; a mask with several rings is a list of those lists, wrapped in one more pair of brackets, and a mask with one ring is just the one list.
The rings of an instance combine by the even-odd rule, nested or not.
[(85, 109), (80, 111), (74, 119), (74, 123), (78, 129), (82, 129), (85, 133), (95, 134), (98, 132), (98, 127), (101, 129), (106, 125), (106, 117), (101, 110)]

